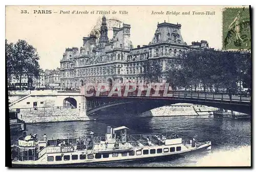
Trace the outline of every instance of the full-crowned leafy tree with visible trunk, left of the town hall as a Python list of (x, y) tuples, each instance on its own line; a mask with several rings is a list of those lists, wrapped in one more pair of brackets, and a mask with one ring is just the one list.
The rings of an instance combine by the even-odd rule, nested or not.
[(28, 80), (39, 76), (39, 56), (36, 49), (29, 45), (26, 40), (18, 40), (13, 48), (13, 74), (19, 79), (21, 89), (22, 77), (27, 76)]

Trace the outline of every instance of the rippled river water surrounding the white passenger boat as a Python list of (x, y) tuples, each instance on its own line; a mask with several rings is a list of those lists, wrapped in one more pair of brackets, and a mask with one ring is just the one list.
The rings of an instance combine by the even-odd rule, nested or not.
[[(115, 162), (90, 166), (109, 167), (167, 167), (167, 166), (250, 166), (251, 121), (214, 119), (208, 117), (147, 117), (128, 119), (108, 119), (96, 121), (53, 122), (27, 125), (27, 134), (44, 134), (93, 131), (104, 136), (107, 126), (125, 125), (131, 134), (176, 133), (183, 138), (198, 135), (199, 141), (212, 141), (212, 150), (207, 154), (185, 156), (153, 162)], [(16, 143), (19, 135), (11, 136)], [(87, 165), (81, 165), (87, 166)]]

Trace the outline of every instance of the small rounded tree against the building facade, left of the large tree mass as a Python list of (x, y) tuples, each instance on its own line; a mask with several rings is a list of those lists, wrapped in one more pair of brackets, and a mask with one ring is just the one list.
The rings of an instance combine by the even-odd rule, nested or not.
[(162, 74), (162, 66), (159, 60), (150, 59), (142, 63), (143, 77), (150, 82), (159, 82)]

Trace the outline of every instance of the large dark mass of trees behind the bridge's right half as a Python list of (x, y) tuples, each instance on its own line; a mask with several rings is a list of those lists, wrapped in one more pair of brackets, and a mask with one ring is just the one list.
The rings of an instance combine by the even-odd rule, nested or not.
[(237, 91), (237, 83), (251, 84), (251, 55), (231, 51), (190, 51), (170, 66), (168, 74), (170, 83), (175, 86), (190, 84), (196, 89), (196, 84), (201, 82), (204, 89), (215, 87), (218, 91), (230, 87)]

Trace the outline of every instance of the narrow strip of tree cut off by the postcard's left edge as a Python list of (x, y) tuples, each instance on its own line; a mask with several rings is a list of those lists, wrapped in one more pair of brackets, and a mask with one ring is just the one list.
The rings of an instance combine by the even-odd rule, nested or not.
[(10, 83), (13, 75), (13, 44), (8, 44), (7, 39), (5, 39), (5, 59), (7, 67), (7, 82)]

